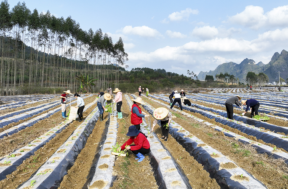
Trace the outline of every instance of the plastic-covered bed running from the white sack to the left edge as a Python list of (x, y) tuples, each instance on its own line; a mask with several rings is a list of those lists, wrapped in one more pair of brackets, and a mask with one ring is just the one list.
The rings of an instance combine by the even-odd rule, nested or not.
[[(85, 110), (87, 110), (89, 107), (95, 104), (97, 100), (87, 104), (83, 111), (85, 112)], [(27, 146), (15, 150), (13, 153), (9, 155), (10, 157), (2, 158), (0, 161), (0, 164), (2, 164), (2, 166), (0, 166), (0, 180), (5, 179), (6, 175), (16, 170), (16, 167), (22, 164), (23, 160), (33, 155), (36, 150), (43, 147), (48, 141), (54, 138), (57, 133), (60, 133), (63, 129), (65, 129), (71, 122), (72, 120), (65, 120), (61, 122), (58, 126), (53, 127), (52, 129), (48, 130), (45, 134), (37, 137)], [(14, 155), (16, 154), (15, 157), (12, 157), (13, 156), (12, 154)], [(4, 164), (5, 161), (6, 162), (10, 161), (10, 163)]]

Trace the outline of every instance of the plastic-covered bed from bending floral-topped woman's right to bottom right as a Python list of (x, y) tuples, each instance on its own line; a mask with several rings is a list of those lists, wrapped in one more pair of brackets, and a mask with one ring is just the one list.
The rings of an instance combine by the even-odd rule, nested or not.
[[(167, 104), (164, 105), (167, 106)], [(147, 106), (145, 109), (147, 110), (149, 107)], [(171, 122), (173, 123), (173, 121)], [(218, 150), (208, 146), (193, 135), (187, 137), (189, 134), (182, 126), (172, 126), (169, 129), (169, 133), (196, 159), (196, 161), (204, 166), (204, 169), (210, 173), (212, 178), (216, 179), (221, 188), (266, 188), (263, 183), (258, 181), (244, 169), (239, 168), (235, 162), (226, 158)], [(234, 168), (225, 169), (226, 164), (232, 165)], [(237, 179), (235, 179), (235, 176), (240, 175), (245, 176), (248, 179), (238, 182)]]

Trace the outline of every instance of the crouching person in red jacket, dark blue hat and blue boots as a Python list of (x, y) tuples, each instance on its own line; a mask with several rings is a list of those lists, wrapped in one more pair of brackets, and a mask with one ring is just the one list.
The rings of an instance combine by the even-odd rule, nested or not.
[[(131, 150), (132, 153), (134, 153), (138, 159), (138, 162), (141, 162), (145, 155), (150, 152), (150, 144), (145, 135), (140, 133), (138, 129), (136, 129), (135, 125), (131, 125), (128, 129), (127, 136), (130, 136), (128, 141), (126, 141), (120, 148), (118, 148), (118, 151), (124, 150), (125, 148), (127, 150)], [(132, 144), (134, 142), (134, 144)], [(131, 145), (132, 144), (132, 145)]]

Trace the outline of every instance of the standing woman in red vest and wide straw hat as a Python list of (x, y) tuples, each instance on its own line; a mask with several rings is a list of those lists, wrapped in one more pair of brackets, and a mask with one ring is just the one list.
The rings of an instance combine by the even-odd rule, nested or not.
[(136, 126), (136, 129), (140, 130), (140, 124), (142, 124), (142, 118), (149, 117), (145, 112), (141, 111), (139, 107), (140, 104), (145, 104), (141, 97), (137, 97), (136, 99), (131, 99), (134, 101), (131, 110), (131, 124)]

